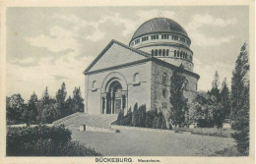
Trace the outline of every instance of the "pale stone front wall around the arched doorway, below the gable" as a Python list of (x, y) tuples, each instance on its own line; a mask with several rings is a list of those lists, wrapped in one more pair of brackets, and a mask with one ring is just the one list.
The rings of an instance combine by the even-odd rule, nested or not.
[[(149, 72), (148, 72), (149, 70)], [(134, 66), (127, 66), (116, 70), (107, 70), (86, 76), (86, 102), (85, 112), (93, 114), (102, 113), (102, 98), (106, 98), (107, 85), (118, 81), (121, 83), (122, 92), (126, 96), (126, 112), (136, 102), (151, 106), (151, 63), (145, 62)], [(139, 75), (139, 82), (134, 82), (134, 75)], [(96, 82), (95, 89), (93, 82)], [(127, 108), (128, 107), (128, 108)], [(99, 110), (100, 109), (100, 110)]]

